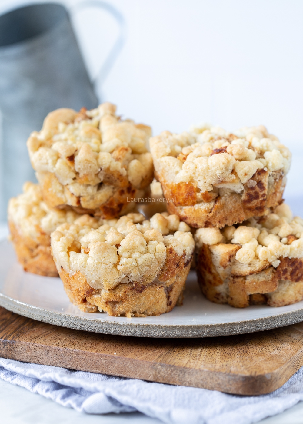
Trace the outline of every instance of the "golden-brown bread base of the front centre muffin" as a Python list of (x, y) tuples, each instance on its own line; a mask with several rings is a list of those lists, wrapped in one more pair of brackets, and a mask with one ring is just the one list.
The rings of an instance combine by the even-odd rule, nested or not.
[(90, 287), (79, 271), (71, 276), (61, 267), (58, 271), (70, 301), (83, 312), (100, 310), (110, 316), (128, 318), (161, 315), (182, 304), (182, 292), (191, 268), (191, 260), (185, 262), (185, 254), (177, 256), (171, 246), (166, 252), (164, 268), (152, 282), (146, 279), (145, 282), (120, 283), (112, 290)]

